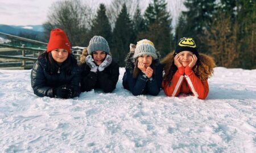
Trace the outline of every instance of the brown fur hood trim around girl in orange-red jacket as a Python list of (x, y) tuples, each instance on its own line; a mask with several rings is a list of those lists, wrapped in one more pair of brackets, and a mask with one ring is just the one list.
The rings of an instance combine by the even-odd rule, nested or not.
[[(201, 80), (207, 80), (213, 74), (213, 68), (216, 67), (214, 59), (207, 54), (199, 53), (201, 65), (194, 66), (193, 71)], [(161, 63), (164, 65), (164, 79), (166, 79), (170, 69), (174, 64), (174, 52), (169, 53)]]

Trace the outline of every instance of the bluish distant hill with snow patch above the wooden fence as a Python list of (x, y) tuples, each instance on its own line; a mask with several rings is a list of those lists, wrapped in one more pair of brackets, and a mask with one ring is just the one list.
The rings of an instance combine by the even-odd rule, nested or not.
[(0, 32), (20, 37), (26, 37), (28, 39), (44, 41), (44, 29), (42, 25), (0, 24)]

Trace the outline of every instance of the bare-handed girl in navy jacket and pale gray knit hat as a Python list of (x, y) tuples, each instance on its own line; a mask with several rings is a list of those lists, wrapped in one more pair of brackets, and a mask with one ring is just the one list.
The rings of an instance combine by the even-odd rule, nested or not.
[[(132, 49), (131, 49), (132, 50)], [(133, 95), (158, 95), (162, 83), (163, 66), (159, 63), (154, 43), (143, 39), (137, 42), (134, 52), (126, 57), (123, 87)]]

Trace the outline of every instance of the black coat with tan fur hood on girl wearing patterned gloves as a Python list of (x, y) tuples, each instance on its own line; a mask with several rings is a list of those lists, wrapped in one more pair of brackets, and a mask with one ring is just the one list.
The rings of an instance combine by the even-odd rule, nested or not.
[(86, 56), (88, 56), (87, 49), (84, 49), (79, 64), (81, 70), (81, 91), (91, 91), (97, 88), (102, 89), (105, 93), (114, 91), (119, 78), (118, 63), (112, 60), (112, 63), (103, 71), (94, 73), (90, 71), (90, 67), (85, 62)]

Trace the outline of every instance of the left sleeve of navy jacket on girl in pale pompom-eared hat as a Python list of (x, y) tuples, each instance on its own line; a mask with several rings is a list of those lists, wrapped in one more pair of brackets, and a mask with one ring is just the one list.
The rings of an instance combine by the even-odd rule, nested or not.
[(127, 90), (131, 91), (134, 96), (142, 95), (144, 88), (146, 87), (147, 78), (144, 78), (143, 73), (140, 72), (137, 78), (133, 78), (129, 70), (126, 69), (123, 75), (123, 84)]

